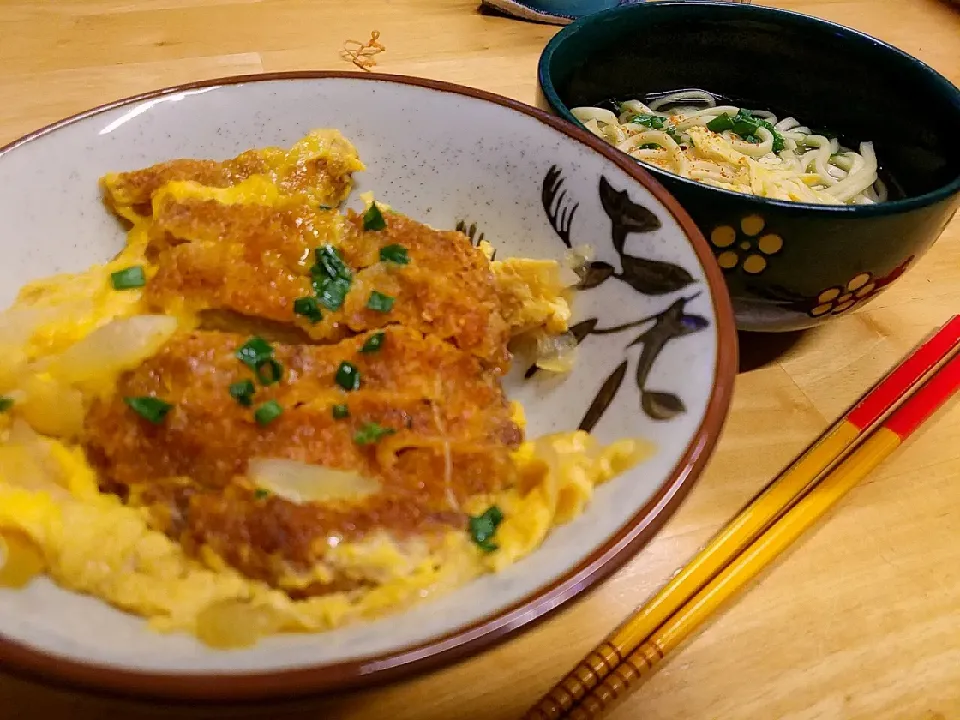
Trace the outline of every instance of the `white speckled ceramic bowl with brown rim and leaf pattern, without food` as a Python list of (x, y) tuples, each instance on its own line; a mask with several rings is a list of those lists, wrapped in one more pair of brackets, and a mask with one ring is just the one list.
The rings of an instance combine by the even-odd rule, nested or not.
[[(652, 319), (587, 336), (562, 381), (525, 380), (517, 367), (507, 390), (526, 406), (530, 435), (575, 428), (587, 414), (602, 440), (646, 436), (656, 456), (600, 488), (585, 514), (505, 572), (322, 635), (217, 652), (185, 635), (153, 634), (140, 619), (46, 580), (0, 591), (6, 669), (114, 692), (225, 700), (342, 689), (432, 667), (477, 652), (608, 575), (700, 473), (736, 368), (730, 303), (706, 242), (637, 163), (563, 121), (477, 90), (354, 73), (230, 78), (122, 100), (40, 130), (0, 150), (0, 301), (12, 301), (27, 280), (86, 268), (122, 246), (100, 201), (103, 173), (285, 146), (318, 127), (340, 128), (367, 165), (354, 205), (373, 190), (434, 227), (475, 225), (501, 257), (559, 259), (565, 241), (593, 245), (596, 287), (579, 294), (577, 319), (595, 319), (594, 330)], [(643, 393), (638, 363), (648, 372)], [(596, 411), (598, 394), (605, 412)]]

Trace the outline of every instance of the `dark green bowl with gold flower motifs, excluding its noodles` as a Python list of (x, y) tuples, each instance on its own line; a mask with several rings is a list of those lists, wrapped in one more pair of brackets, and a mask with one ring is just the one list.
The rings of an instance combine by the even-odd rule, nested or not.
[(900, 188), (874, 205), (768, 200), (647, 166), (711, 240), (742, 330), (797, 330), (862, 307), (960, 205), (960, 90), (840, 25), (729, 3), (618, 7), (561, 30), (539, 80), (541, 102), (574, 123), (574, 107), (700, 88), (831, 128), (847, 146), (874, 141)]

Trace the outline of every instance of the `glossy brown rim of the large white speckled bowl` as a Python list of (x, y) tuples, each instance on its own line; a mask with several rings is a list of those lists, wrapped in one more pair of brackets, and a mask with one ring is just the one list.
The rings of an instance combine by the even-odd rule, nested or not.
[(650, 191), (674, 216), (694, 248), (710, 289), (717, 321), (717, 356), (712, 395), (703, 421), (680, 461), (656, 494), (591, 555), (513, 605), (418, 645), (379, 656), (330, 665), (249, 673), (164, 673), (119, 669), (48, 654), (0, 636), (0, 668), (43, 682), (110, 695), (192, 702), (257, 701), (370, 687), (470, 657), (521, 628), (543, 620), (636, 555), (676, 511), (716, 446), (723, 428), (737, 370), (733, 308), (720, 267), (703, 234), (679, 203), (639, 163), (572, 123), (517, 100), (484, 90), (406, 75), (351, 71), (291, 71), (235, 75), (184, 83), (99, 105), (51, 123), (0, 147), (0, 158), (79, 120), (144, 100), (227, 85), (277, 80), (346, 79), (411, 85), (492, 102), (532, 117), (595, 150)]

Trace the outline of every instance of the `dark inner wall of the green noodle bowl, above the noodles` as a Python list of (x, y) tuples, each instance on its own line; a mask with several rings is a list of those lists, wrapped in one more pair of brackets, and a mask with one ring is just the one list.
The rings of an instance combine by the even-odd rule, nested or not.
[(901, 197), (960, 183), (960, 91), (895, 48), (797, 13), (731, 3), (621, 7), (561, 31), (540, 79), (571, 120), (569, 108), (580, 105), (699, 88), (792, 115), (848, 146), (872, 140)]

